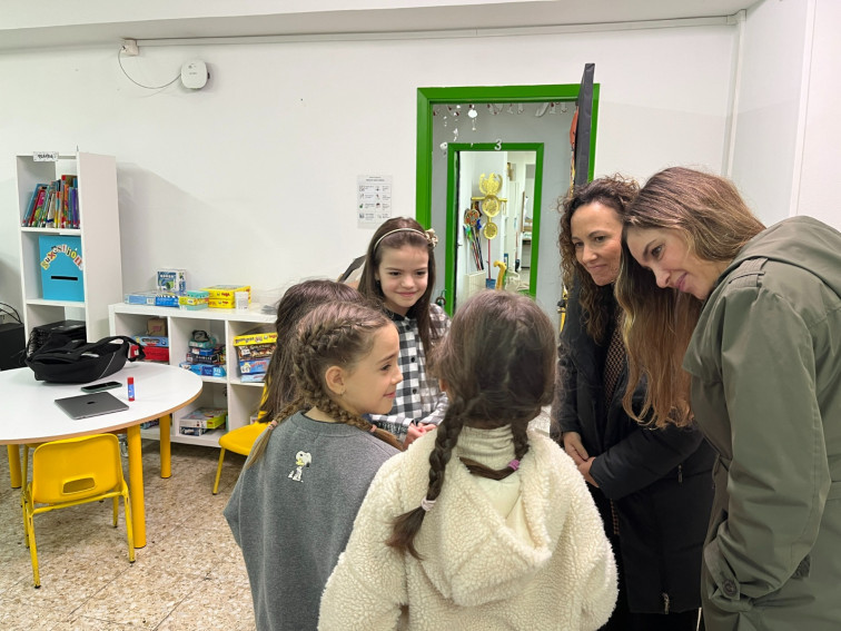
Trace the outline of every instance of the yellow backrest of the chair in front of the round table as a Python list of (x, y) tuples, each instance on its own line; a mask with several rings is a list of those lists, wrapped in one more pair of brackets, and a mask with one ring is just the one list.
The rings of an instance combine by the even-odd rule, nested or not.
[(75, 502), (122, 483), (120, 447), (113, 434), (95, 434), (39, 445), (32, 455), (32, 501)]

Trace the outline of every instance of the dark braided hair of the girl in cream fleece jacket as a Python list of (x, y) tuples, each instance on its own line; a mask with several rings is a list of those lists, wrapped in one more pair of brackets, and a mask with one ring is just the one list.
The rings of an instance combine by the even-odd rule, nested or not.
[[(464, 425), (486, 430), (511, 425), (515, 459), (526, 454), (528, 422), (552, 403), (555, 362), (552, 323), (530, 298), (486, 290), (459, 307), (429, 367), (431, 374), (445, 383), (449, 397), (429, 454), (429, 485), (420, 507), (395, 519), (389, 546), (420, 558), (415, 535), (441, 494), (447, 462)], [(498, 477), (481, 465), (468, 469)]]

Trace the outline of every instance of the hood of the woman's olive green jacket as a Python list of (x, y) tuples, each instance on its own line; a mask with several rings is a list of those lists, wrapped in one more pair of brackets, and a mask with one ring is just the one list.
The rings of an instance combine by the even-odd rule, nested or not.
[(841, 233), (812, 217), (783, 219), (748, 241), (722, 278), (749, 258), (768, 258), (801, 267), (841, 296)]

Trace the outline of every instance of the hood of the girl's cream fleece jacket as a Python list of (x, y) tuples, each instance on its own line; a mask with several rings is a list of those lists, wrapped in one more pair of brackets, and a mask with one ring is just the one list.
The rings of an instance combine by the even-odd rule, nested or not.
[[(434, 438), (417, 441), (413, 457), (428, 462)], [(458, 605), (476, 607), (516, 595), (552, 559), (568, 503), (552, 501), (560, 484), (546, 474), (556, 469), (550, 440), (530, 433), (530, 443), (518, 470), (522, 506), (514, 509), (522, 510), (525, 528), (508, 525), (455, 453), (447, 464), (444, 487), (424, 519), (415, 546), (428, 580)], [(425, 483), (416, 490), (423, 497)]]

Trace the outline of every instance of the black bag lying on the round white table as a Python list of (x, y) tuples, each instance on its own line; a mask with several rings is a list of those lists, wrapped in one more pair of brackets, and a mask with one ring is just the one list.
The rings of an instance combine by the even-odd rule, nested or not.
[[(137, 348), (137, 354), (131, 347)], [(132, 356), (129, 356), (132, 353)], [(112, 375), (126, 362), (145, 358), (144, 347), (125, 335), (103, 337), (86, 343), (63, 335), (51, 335), (26, 358), (26, 364), (39, 382), (87, 384)]]

